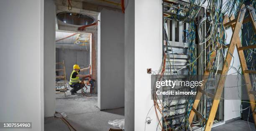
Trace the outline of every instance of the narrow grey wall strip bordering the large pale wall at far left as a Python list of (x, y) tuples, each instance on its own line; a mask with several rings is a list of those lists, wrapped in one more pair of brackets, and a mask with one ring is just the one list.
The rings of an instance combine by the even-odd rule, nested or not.
[(44, 0), (44, 117), (55, 113), (55, 3)]

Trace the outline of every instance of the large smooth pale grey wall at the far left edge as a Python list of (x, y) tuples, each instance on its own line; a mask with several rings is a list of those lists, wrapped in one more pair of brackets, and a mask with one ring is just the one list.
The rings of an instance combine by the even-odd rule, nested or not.
[(44, 0), (0, 0), (0, 23), (0, 122), (44, 131)]

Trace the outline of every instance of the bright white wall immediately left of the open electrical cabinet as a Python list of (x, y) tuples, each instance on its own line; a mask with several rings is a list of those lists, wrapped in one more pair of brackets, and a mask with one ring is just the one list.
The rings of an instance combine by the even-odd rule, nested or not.
[[(146, 71), (161, 65), (161, 20), (161, 0), (135, 0), (135, 131), (155, 131), (158, 124)], [(147, 114), (152, 121), (145, 125)]]

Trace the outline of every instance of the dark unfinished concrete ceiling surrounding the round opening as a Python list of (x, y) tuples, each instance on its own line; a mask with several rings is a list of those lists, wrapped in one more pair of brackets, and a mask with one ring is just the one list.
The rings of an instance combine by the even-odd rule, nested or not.
[[(56, 14), (68, 12), (88, 15), (97, 22), (100, 10), (108, 8), (110, 10), (121, 11), (121, 0), (71, 0), (72, 9), (68, 10), (68, 0), (56, 0)], [(56, 20), (56, 30), (78, 31), (81, 25), (71, 25), (61, 20)], [(97, 27), (95, 25), (86, 27), (81, 31), (84, 33), (95, 33)]]

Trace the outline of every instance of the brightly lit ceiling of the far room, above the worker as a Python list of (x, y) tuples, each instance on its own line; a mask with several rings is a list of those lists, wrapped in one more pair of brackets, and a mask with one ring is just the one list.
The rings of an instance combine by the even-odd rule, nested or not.
[(90, 33), (56, 31), (56, 48), (90, 50)]

